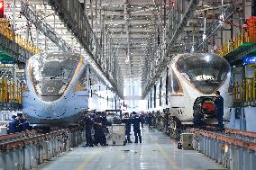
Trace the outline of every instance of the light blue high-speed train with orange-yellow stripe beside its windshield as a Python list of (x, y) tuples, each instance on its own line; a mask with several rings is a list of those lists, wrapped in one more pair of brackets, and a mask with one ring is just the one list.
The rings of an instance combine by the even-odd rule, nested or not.
[(77, 124), (95, 106), (114, 109), (119, 103), (118, 96), (79, 54), (52, 52), (32, 56), (25, 75), (23, 113), (37, 126)]

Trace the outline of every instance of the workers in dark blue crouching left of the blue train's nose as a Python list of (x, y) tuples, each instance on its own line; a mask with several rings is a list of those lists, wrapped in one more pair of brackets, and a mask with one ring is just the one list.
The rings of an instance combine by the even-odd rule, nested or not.
[(18, 113), (17, 116), (13, 115), (12, 119), (8, 121), (7, 125), (8, 133), (22, 132), (29, 130), (29, 122), (23, 117), (22, 113)]

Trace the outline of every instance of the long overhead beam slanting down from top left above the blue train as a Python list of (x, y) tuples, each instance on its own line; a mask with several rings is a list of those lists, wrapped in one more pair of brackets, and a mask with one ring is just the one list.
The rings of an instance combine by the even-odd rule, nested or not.
[[(123, 98), (123, 77), (119, 72), (119, 66), (114, 65), (108, 67), (109, 61), (106, 59), (103, 48), (96, 38), (96, 34), (91, 28), (87, 20), (87, 16), (78, 1), (48, 1), (53, 9), (59, 13), (61, 20), (67, 23), (68, 28), (72, 30), (74, 35), (78, 38), (82, 46), (87, 50), (88, 55), (92, 60), (92, 64), (100, 70), (106, 77), (110, 84), (114, 87), (114, 91)], [(113, 69), (110, 69), (113, 68)]]

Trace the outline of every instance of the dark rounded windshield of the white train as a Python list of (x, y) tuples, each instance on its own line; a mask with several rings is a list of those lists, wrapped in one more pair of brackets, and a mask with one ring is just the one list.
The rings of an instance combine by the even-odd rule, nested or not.
[(177, 61), (178, 71), (203, 94), (212, 94), (230, 71), (228, 62), (215, 54), (186, 54)]

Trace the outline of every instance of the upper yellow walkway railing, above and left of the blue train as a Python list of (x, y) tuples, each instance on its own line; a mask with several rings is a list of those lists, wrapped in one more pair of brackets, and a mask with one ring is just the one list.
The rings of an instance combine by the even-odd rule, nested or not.
[(2, 22), (0, 25), (0, 33), (3, 34), (6, 39), (13, 40), (19, 44), (19, 46), (23, 47), (23, 49), (27, 49), (28, 51), (32, 52), (32, 54), (41, 53), (41, 49), (34, 46), (29, 40), (24, 39), (20, 34), (14, 33), (8, 24), (4, 24)]

